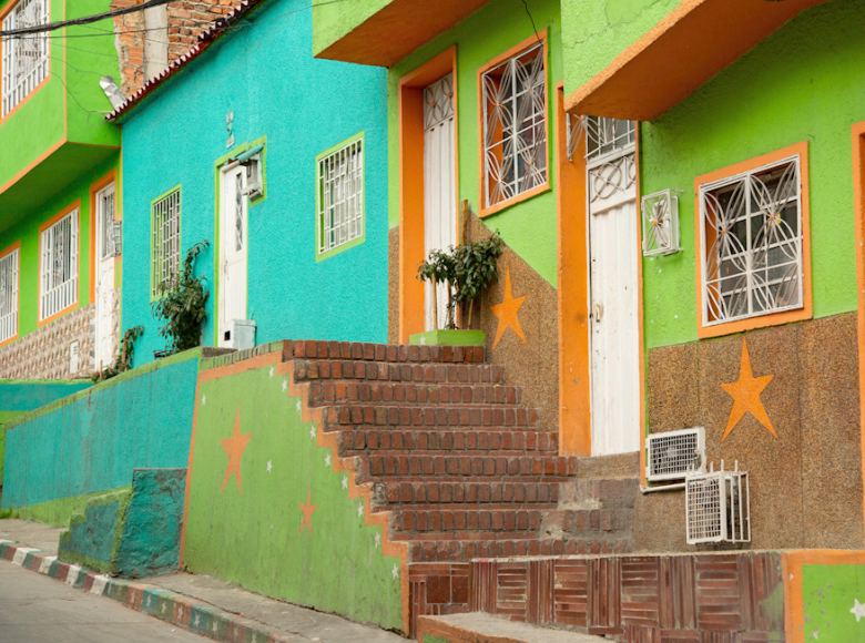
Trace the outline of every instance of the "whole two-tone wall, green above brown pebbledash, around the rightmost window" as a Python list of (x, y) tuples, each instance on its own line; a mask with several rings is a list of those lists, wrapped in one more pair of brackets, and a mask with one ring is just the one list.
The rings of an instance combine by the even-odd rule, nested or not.
[[(863, 0), (804, 11), (641, 124), (641, 192), (683, 191), (683, 252), (643, 261), (648, 430), (703, 426), (709, 460), (749, 471), (754, 549), (864, 544), (851, 151), (864, 33)], [(802, 142), (813, 319), (698, 340), (695, 178)], [(753, 376), (773, 376), (761, 400), (776, 436), (747, 414), (724, 438), (733, 399), (721, 385), (740, 380), (745, 347)], [(643, 497), (635, 523), (642, 550), (693, 549), (683, 492)]]

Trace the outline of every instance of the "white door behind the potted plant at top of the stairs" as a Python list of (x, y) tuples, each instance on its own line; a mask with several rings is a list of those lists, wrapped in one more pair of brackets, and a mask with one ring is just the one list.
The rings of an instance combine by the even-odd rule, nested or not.
[[(448, 74), (424, 90), (424, 258), (457, 243), (452, 88), (454, 76)], [(426, 330), (444, 328), (447, 286), (439, 284), (435, 297), (432, 284), (426, 282), (425, 287)]]

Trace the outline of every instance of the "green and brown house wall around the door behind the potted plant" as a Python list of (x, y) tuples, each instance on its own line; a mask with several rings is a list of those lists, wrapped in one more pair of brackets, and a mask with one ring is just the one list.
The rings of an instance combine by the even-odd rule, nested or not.
[[(358, 16), (373, 2), (352, 3)], [(456, 48), (456, 129), (458, 185), (455, 195), (468, 201), (470, 208), (468, 241), (479, 241), (498, 232), (506, 244), (499, 262), (499, 280), (482, 296), (476, 307), (472, 326), (487, 337), (489, 358), (506, 367), (509, 381), (523, 387), (525, 400), (540, 409), (545, 430), (558, 430), (558, 364), (557, 336), (557, 166), (556, 129), (557, 84), (562, 81), (562, 28), (558, 0), (537, 0), (531, 3), (531, 19), (520, 2), (493, 0), (462, 20), (454, 29), (438, 35), (388, 70), (388, 221), (389, 221), (389, 329), (390, 341), (399, 340), (399, 238), (400, 238), (400, 139), (399, 81), (449, 48)], [(354, 18), (359, 21), (359, 18)], [(532, 24), (533, 19), (533, 24)], [(318, 23), (316, 24), (318, 27)], [(322, 33), (335, 23), (323, 23)], [(537, 29), (537, 31), (536, 31)], [(547, 91), (547, 190), (503, 210), (478, 218), (479, 186), (482, 166), (479, 151), (479, 129), (482, 123), (478, 95), (478, 71), (487, 63), (546, 31), (545, 61)], [(413, 217), (413, 213), (404, 213)], [(403, 231), (403, 234), (405, 231)], [(458, 228), (458, 236), (461, 232)], [(403, 275), (404, 282), (414, 282), (414, 266)], [(510, 288), (507, 290), (506, 286)], [(513, 299), (519, 305), (517, 327), (499, 328), (499, 319), (491, 306)], [(518, 303), (518, 302), (517, 302)], [(476, 305), (477, 306), (477, 305)], [(480, 310), (480, 313), (478, 313)], [(501, 333), (497, 341), (497, 335)]]

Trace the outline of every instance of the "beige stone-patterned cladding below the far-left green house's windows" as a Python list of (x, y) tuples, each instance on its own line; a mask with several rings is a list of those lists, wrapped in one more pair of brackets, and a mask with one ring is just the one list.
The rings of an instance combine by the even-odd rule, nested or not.
[[(95, 305), (82, 306), (0, 348), (0, 379), (73, 379), (93, 367)], [(70, 344), (78, 341), (79, 369), (70, 372)]]

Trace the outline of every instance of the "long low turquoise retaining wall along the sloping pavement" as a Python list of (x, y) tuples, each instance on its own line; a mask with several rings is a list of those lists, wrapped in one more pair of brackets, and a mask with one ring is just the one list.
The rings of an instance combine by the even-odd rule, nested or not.
[(67, 525), (134, 468), (185, 468), (201, 349), (124, 372), (7, 426), (2, 508)]

